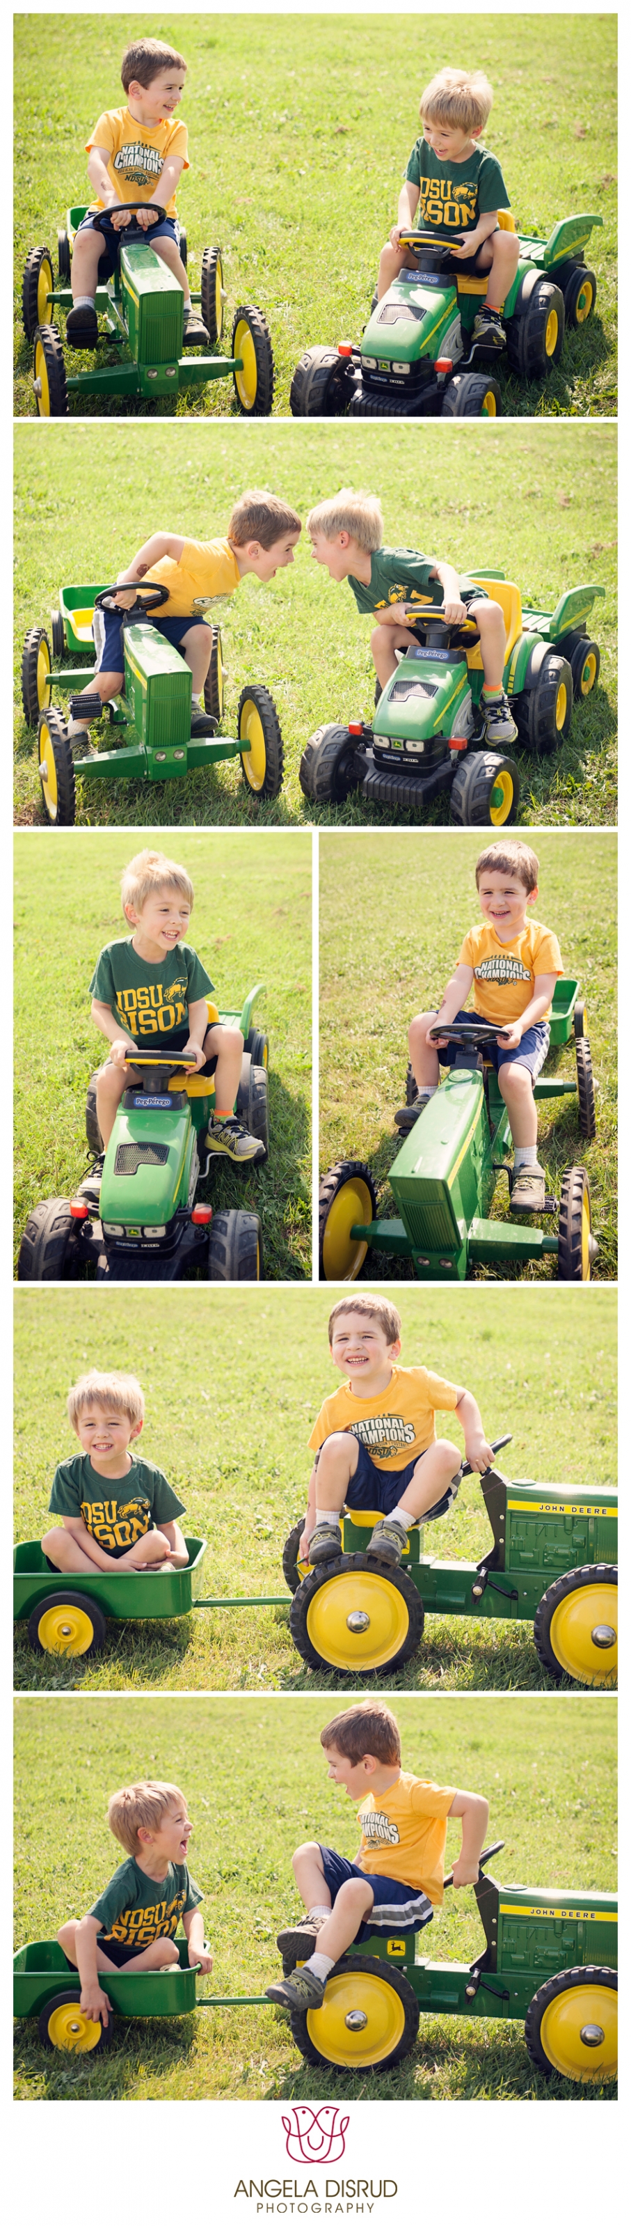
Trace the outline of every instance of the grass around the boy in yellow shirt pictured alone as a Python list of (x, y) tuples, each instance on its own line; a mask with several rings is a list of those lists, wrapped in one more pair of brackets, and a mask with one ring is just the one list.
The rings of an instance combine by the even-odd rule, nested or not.
[[(562, 1171), (584, 1164), (600, 1258), (595, 1280), (615, 1275), (615, 866), (611, 835), (535, 830), (540, 897), (533, 908), (555, 930), (564, 973), (580, 977), (595, 1071), (593, 1142), (578, 1129), (578, 1100), (540, 1102), (540, 1160), (560, 1195)], [(382, 1186), (380, 1213), (393, 1211), (389, 1166), (400, 1149), (393, 1113), (404, 1104), (407, 1031), (413, 1013), (440, 1004), (460, 944), (480, 919), (475, 893), (480, 833), (353, 835), (320, 841), (320, 1173), (333, 1160), (369, 1160)], [(469, 997), (473, 1011), (473, 993)], [(573, 1037), (549, 1053), (560, 1077), (575, 1073)], [(498, 1180), (493, 1220), (507, 1220)], [(542, 1227), (553, 1227), (542, 1222)], [(518, 1271), (478, 1269), (511, 1280)], [(364, 1280), (411, 1275), (411, 1262), (367, 1253)], [(544, 1258), (522, 1269), (555, 1275)]]

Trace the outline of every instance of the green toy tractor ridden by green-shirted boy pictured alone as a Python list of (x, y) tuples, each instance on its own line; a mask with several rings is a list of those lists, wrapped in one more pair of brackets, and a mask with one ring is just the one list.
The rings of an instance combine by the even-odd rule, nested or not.
[[(240, 1013), (218, 1013), (207, 999), (209, 1026), (222, 1020), (242, 1028), (236, 1111), (262, 1144), (256, 1166), (269, 1155), (267, 1035), (251, 1026), (260, 988), (249, 991)], [(73, 1198), (47, 1198), (33, 1206), (18, 1253), (18, 1282), (73, 1282), (87, 1271), (98, 1282), (178, 1282), (189, 1273), (209, 1282), (258, 1282), (258, 1213), (213, 1213), (196, 1202), (198, 1184), (216, 1164), (216, 1153), (204, 1151), (213, 1075), (198, 1073), (193, 1060), (164, 1057), (164, 1051), (147, 1051), (144, 1044), (133, 1066), (140, 1084), (133, 1082), (120, 1100), (102, 1169), (91, 1077), (87, 1142), (96, 1166)]]

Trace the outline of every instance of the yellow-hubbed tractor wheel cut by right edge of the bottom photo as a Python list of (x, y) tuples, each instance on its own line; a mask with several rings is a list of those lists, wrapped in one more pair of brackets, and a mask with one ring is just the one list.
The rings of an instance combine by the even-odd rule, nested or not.
[(540, 2072), (604, 2086), (618, 2072), (618, 1970), (558, 1970), (533, 1994), (524, 2039)]

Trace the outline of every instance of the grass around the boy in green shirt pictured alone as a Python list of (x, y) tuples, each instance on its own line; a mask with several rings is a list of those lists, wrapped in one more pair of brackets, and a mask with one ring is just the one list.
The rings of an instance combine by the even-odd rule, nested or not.
[[(153, 828), (144, 841), (156, 841)], [(89, 982), (104, 944), (124, 937), (120, 875), (142, 835), (64, 830), (16, 837), (16, 1233), (40, 1198), (67, 1198), (87, 1171), (84, 1093), (107, 1055)], [(191, 944), (216, 1004), (269, 1026), (264, 1166), (213, 1169), (198, 1198), (260, 1213), (264, 1273), (311, 1273), (311, 841), (289, 835), (187, 835), (178, 846), (196, 908)]]

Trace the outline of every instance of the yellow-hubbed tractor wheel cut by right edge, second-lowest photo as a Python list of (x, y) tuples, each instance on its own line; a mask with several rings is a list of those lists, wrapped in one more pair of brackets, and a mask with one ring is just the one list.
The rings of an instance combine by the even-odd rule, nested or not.
[(600, 1560), (569, 1569), (544, 1592), (533, 1641), (542, 1670), (575, 1685), (615, 1685), (618, 1678), (618, 1569)]

